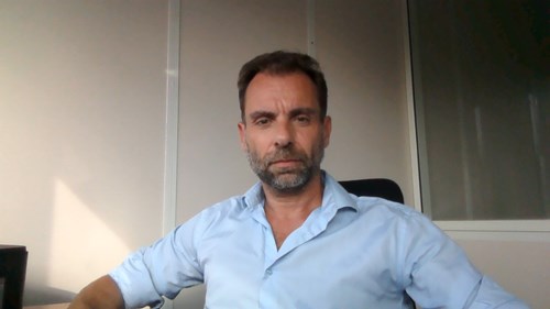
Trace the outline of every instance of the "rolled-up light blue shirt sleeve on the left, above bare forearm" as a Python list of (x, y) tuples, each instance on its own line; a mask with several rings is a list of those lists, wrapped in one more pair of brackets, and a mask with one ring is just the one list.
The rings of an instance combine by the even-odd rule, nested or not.
[(109, 274), (122, 293), (125, 308), (161, 308), (163, 297), (173, 299), (184, 287), (202, 283), (195, 251), (196, 220), (132, 253)]

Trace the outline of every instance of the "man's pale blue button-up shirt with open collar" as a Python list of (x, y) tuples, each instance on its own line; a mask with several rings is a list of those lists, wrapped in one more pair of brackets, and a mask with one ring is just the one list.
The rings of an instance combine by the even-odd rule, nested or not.
[(206, 308), (528, 308), (483, 276), (414, 209), (350, 195), (328, 174), (322, 205), (277, 250), (262, 186), (205, 209), (110, 275), (127, 308), (206, 284)]

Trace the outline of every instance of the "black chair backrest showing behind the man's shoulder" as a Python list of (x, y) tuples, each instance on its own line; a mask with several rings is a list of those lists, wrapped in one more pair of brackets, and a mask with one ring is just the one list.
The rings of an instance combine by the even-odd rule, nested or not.
[(403, 203), (402, 189), (394, 180), (386, 178), (370, 178), (339, 181), (344, 189), (356, 196), (380, 197), (391, 201)]

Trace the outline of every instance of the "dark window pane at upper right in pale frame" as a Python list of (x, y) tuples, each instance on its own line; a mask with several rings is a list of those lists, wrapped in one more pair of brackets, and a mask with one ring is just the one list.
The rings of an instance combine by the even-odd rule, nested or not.
[(408, 10), (425, 213), (550, 219), (550, 2)]

